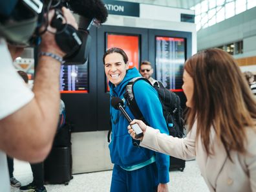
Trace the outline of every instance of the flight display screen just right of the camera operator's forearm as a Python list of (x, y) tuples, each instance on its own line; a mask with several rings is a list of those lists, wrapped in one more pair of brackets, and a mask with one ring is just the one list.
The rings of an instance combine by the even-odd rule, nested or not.
[(61, 93), (87, 93), (89, 91), (88, 63), (61, 65), (59, 90)]

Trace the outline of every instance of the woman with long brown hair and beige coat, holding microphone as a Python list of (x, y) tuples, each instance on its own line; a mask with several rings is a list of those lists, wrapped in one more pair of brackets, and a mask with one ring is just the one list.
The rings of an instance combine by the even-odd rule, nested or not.
[[(186, 138), (138, 123), (140, 146), (196, 158), (209, 191), (256, 191), (256, 101), (235, 59), (212, 48), (187, 59), (182, 89), (189, 107)], [(157, 127), (155, 127), (157, 128)], [(134, 138), (134, 131), (128, 126)]]

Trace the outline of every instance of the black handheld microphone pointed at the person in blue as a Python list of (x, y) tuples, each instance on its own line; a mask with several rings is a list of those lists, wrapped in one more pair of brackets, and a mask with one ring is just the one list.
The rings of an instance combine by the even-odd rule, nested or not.
[[(123, 115), (125, 116), (125, 118), (127, 119), (127, 121), (129, 123), (132, 122), (129, 114), (127, 114), (125, 109), (123, 109), (123, 101), (120, 98), (113, 97), (111, 99), (111, 105), (112, 105), (112, 107), (114, 107), (114, 109), (117, 109), (117, 110), (119, 109), (123, 113)], [(140, 129), (140, 126), (137, 123), (131, 125), (131, 127), (133, 128), (133, 131), (135, 132), (135, 138), (140, 138), (143, 136), (143, 131), (142, 131), (142, 129)]]

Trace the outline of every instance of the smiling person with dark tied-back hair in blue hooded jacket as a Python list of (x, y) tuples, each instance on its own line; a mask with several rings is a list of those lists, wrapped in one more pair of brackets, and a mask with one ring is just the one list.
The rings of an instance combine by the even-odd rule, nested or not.
[[(128, 58), (120, 48), (110, 48), (103, 56), (105, 74), (109, 79), (110, 96), (121, 98), (125, 86), (133, 78), (140, 76), (136, 68), (129, 69)], [(157, 127), (161, 133), (168, 134), (162, 105), (155, 89), (144, 80), (133, 85), (134, 97), (145, 120), (151, 127)], [(125, 111), (134, 118), (129, 110)], [(157, 153), (139, 145), (127, 132), (129, 122), (123, 114), (110, 107), (112, 136), (109, 150), (114, 164), (111, 181), (111, 192), (167, 192), (169, 182), (169, 156)]]

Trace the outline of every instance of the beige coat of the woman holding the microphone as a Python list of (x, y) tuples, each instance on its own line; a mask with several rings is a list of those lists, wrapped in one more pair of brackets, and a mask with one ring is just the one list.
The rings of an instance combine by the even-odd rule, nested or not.
[(250, 155), (231, 151), (233, 162), (229, 160), (214, 131), (211, 133), (210, 143), (215, 155), (206, 155), (201, 140), (199, 139), (197, 144), (195, 142), (196, 131), (195, 123), (186, 138), (173, 138), (147, 127), (140, 145), (185, 160), (196, 157), (201, 174), (211, 192), (256, 192), (256, 131), (247, 131), (246, 149)]

